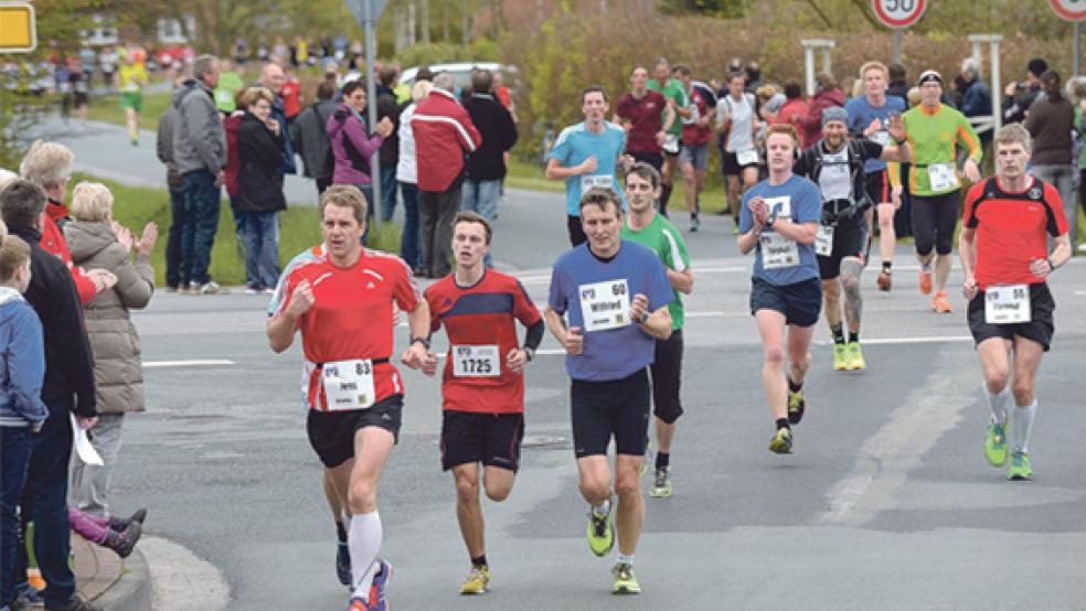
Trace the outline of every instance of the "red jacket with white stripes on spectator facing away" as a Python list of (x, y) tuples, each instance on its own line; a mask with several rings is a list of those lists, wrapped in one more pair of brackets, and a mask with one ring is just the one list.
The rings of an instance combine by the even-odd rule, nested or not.
[(434, 89), (418, 103), (411, 128), (420, 191), (448, 191), (464, 173), (464, 156), (482, 143), (468, 111), (444, 89)]

